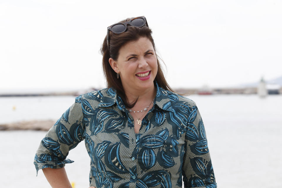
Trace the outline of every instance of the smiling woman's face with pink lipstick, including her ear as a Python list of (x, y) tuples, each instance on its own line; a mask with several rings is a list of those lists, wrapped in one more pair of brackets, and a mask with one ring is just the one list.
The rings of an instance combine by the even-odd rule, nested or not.
[(151, 41), (141, 37), (119, 50), (117, 61), (109, 59), (112, 68), (120, 74), (122, 86), (127, 92), (154, 88), (157, 75), (157, 57)]

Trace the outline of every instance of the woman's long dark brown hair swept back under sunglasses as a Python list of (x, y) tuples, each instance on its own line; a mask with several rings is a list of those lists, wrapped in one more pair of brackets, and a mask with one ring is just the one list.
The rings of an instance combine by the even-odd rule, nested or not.
[[(120, 22), (124, 23), (126, 21), (129, 21), (130, 19), (132, 18), (127, 18)], [(104, 70), (105, 78), (107, 80), (107, 87), (115, 88), (115, 90), (117, 90), (117, 94), (120, 96), (125, 106), (127, 106), (128, 108), (132, 108), (137, 102), (138, 98), (135, 100), (134, 103), (129, 103), (125, 95), (124, 89), (122, 87), (121, 79), (117, 79), (117, 73), (110, 66), (109, 58), (113, 58), (115, 61), (117, 61), (120, 48), (130, 41), (137, 41), (140, 37), (147, 37), (152, 42), (153, 48), (155, 50), (155, 43), (154, 43), (154, 39), (152, 38), (152, 30), (147, 26), (138, 28), (130, 25), (127, 25), (127, 30), (120, 34), (115, 34), (110, 31), (109, 34), (110, 51), (108, 50), (106, 37), (100, 49), (101, 54), (103, 55), (103, 70)], [(155, 81), (157, 81), (159, 87), (165, 90), (173, 91), (164, 78), (164, 74), (162, 72), (159, 59), (160, 57), (157, 56), (158, 71), (155, 77)]]

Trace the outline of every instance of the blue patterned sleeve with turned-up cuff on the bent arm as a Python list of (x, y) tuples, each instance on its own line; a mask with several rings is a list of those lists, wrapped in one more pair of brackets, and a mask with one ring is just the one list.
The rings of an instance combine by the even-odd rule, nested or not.
[(74, 161), (66, 159), (69, 150), (84, 139), (84, 119), (81, 106), (82, 95), (66, 110), (41, 140), (34, 157), (36, 176), (43, 168), (62, 168)]

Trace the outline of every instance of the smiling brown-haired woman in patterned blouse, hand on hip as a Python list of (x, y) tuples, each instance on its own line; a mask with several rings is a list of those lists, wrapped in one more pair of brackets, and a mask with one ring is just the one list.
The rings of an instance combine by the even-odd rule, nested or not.
[(144, 16), (108, 27), (108, 88), (75, 98), (48, 131), (34, 164), (52, 187), (71, 187), (64, 165), (80, 141), (91, 187), (216, 187), (204, 124), (194, 101), (167, 84)]

